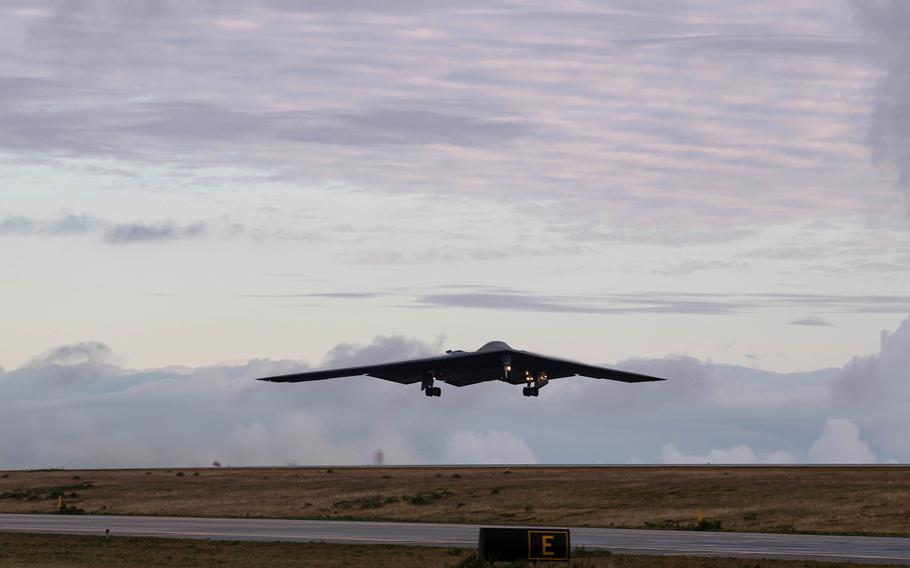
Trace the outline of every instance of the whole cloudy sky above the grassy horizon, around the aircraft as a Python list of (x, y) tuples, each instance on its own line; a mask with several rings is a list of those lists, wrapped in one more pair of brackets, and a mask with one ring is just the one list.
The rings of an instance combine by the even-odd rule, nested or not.
[(0, 11), (0, 468), (910, 461), (908, 3)]

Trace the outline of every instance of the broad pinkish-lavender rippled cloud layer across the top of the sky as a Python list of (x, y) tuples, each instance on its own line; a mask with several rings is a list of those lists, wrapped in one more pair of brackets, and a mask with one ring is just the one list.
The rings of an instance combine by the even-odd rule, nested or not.
[(872, 207), (869, 45), (821, 5), (45, 1), (0, 32), (24, 162), (532, 204), (566, 241)]

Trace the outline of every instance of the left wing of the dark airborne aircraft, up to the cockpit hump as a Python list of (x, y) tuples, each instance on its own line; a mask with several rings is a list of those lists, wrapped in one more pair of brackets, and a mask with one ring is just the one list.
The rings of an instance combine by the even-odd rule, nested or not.
[(427, 373), (430, 372), (438, 373), (444, 380), (444, 378), (448, 376), (480, 373), (491, 366), (497, 368), (500, 365), (499, 361), (499, 353), (452, 352), (446, 355), (427, 357), (424, 359), (409, 359), (406, 361), (380, 363), (378, 365), (364, 365), (362, 367), (305, 371), (303, 373), (294, 373), (290, 375), (264, 377), (258, 380), (270, 381), (273, 383), (299, 383), (304, 381), (322, 381), (339, 377), (367, 375), (409, 385), (412, 383), (419, 383), (426, 377)]

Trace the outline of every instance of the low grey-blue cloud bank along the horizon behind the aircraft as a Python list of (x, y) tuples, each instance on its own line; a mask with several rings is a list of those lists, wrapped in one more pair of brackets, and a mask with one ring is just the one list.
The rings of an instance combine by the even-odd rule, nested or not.
[[(321, 365), (437, 353), (380, 336)], [(90, 342), (0, 370), (0, 468), (408, 463), (878, 463), (910, 461), (910, 318), (878, 354), (776, 374), (687, 357), (617, 366), (671, 380), (416, 387), (365, 377), (281, 385), (291, 360), (135, 370)], [(191, 433), (191, 434), (188, 434)], [(570, 440), (571, 443), (568, 443)]]

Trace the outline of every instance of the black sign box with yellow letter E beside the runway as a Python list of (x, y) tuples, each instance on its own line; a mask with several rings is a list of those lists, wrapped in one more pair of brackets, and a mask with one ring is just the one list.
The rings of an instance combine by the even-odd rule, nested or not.
[(569, 559), (568, 529), (480, 529), (480, 557), (489, 562)]

